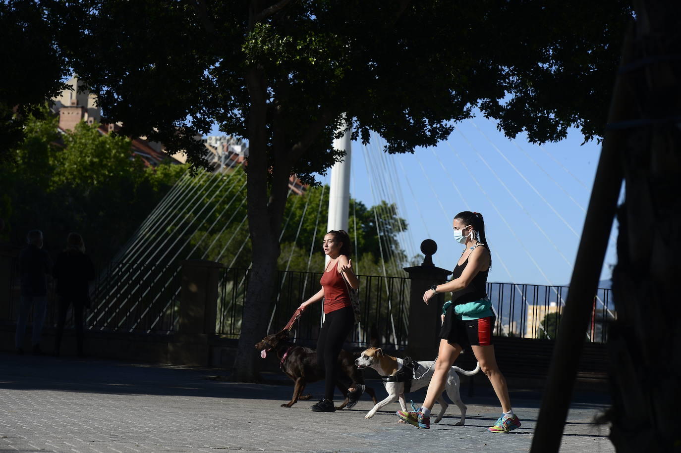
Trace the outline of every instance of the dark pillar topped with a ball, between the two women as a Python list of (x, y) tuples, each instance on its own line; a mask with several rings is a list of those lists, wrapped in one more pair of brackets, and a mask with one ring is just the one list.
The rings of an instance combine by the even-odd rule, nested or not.
[(411, 279), (411, 294), (409, 295), (409, 337), (407, 354), (419, 360), (430, 360), (437, 356), (440, 331), (440, 315), (445, 303), (444, 293), (435, 295), (428, 305), (423, 296), (430, 286), (447, 282), (447, 276), (452, 271), (435, 267), (432, 255), (437, 252), (437, 244), (432, 239), (421, 243), (421, 251), (426, 258), (420, 266), (405, 267)]

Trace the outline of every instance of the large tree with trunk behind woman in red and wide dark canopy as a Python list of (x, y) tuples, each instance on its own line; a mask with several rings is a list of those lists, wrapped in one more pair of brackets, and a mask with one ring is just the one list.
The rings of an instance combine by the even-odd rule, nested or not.
[(122, 133), (184, 148), (195, 165), (193, 137), (213, 121), (249, 141), (253, 271), (238, 380), (257, 378), (252, 345), (266, 326), (289, 175), (313, 182), (341, 158), (332, 138), (345, 124), (364, 142), (379, 133), (387, 152), (412, 152), (473, 107), (511, 137), (557, 140), (571, 125), (595, 137), (631, 15), (622, 0), (52, 5), (74, 69)]

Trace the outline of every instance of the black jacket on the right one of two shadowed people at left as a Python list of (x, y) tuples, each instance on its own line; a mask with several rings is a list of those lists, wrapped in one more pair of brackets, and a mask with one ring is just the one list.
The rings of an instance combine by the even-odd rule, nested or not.
[(57, 295), (74, 303), (89, 304), (89, 282), (95, 280), (95, 267), (86, 254), (67, 250), (57, 256), (52, 268), (57, 279)]

